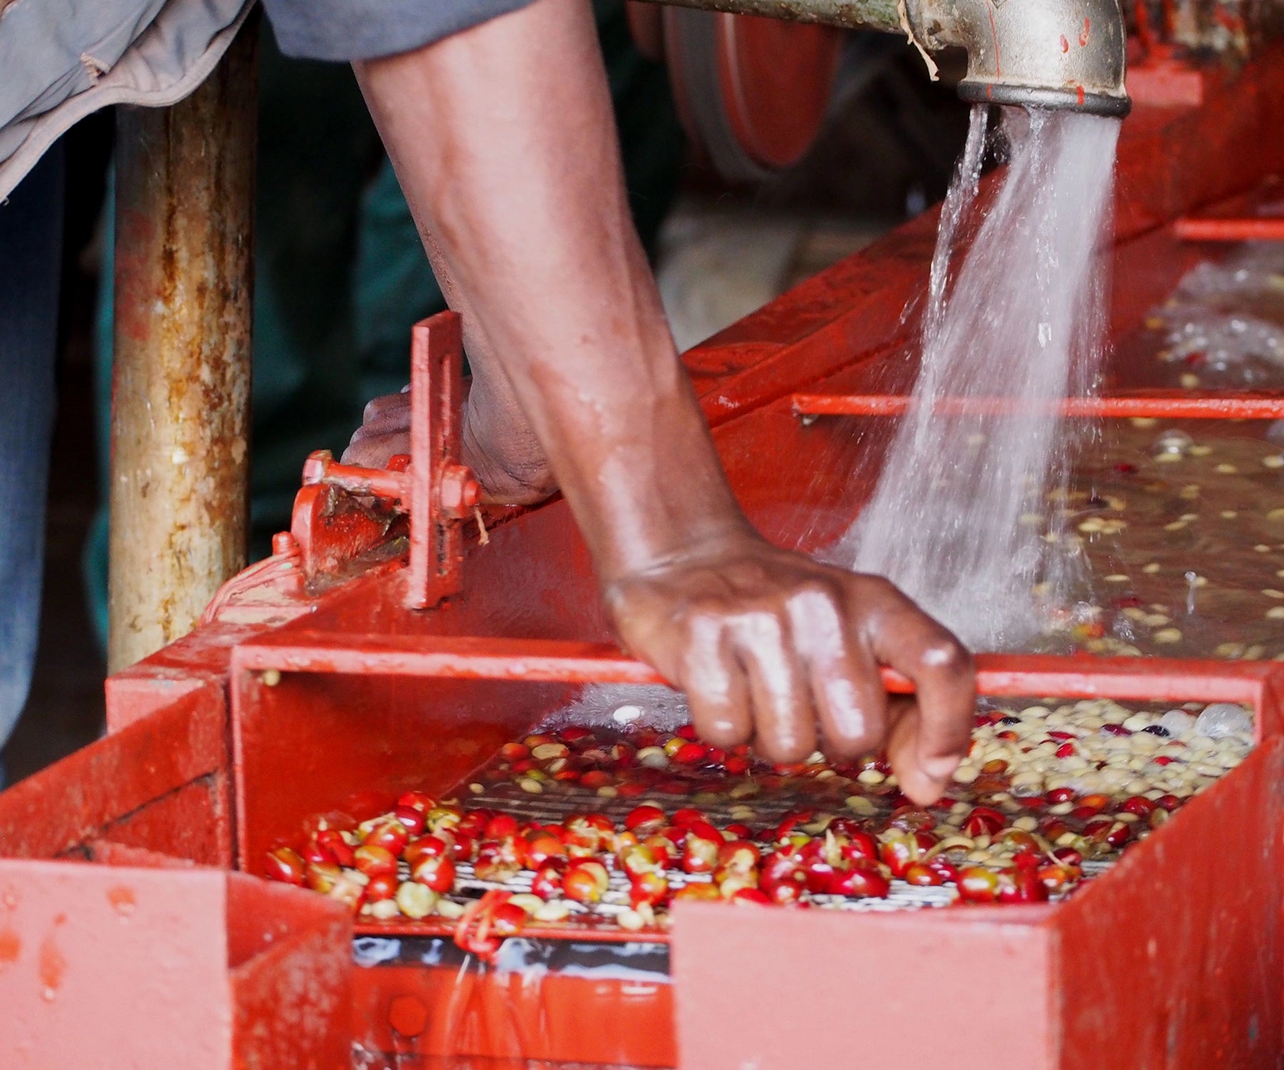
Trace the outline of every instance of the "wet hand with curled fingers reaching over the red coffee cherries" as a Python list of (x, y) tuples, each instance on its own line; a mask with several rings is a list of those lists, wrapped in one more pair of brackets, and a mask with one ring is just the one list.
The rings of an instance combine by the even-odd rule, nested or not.
[[(755, 740), (774, 762), (886, 745), (900, 790), (939, 799), (971, 739), (963, 645), (881, 577), (829, 568), (738, 532), (616, 579), (606, 604), (625, 646), (687, 694), (702, 739)], [(909, 677), (889, 703), (881, 664)]]

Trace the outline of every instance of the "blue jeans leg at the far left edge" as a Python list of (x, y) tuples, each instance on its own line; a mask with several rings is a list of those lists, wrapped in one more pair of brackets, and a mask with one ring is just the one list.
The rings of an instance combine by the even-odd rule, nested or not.
[(40, 635), (62, 243), (59, 141), (0, 203), (0, 746), (27, 703)]

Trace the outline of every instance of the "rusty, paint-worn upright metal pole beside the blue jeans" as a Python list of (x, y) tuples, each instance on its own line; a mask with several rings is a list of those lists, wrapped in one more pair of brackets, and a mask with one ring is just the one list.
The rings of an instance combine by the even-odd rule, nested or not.
[(121, 108), (108, 671), (245, 565), (257, 19), (172, 108)]

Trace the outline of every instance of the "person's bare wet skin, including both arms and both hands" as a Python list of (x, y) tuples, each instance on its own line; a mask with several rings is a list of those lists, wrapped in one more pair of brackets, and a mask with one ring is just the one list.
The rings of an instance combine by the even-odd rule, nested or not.
[[(587, 0), (538, 3), (357, 64), (451, 307), (473, 388), (465, 461), (493, 501), (560, 488), (621, 642), (701, 736), (799, 760), (889, 748), (939, 798), (968, 746), (968, 653), (890, 583), (764, 541), (714, 452), (629, 217)], [(406, 396), (345, 460), (406, 452)], [(889, 703), (877, 667), (910, 677)]]

